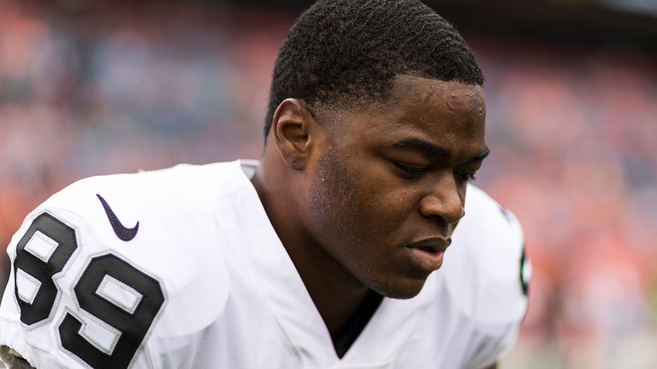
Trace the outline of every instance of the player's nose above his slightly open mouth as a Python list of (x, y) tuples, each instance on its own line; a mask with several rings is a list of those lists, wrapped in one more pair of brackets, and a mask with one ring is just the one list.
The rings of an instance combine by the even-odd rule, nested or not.
[(420, 200), (420, 213), (424, 217), (440, 217), (447, 225), (457, 223), (463, 215), (465, 188), (459, 188), (454, 175), (443, 176), (432, 190)]

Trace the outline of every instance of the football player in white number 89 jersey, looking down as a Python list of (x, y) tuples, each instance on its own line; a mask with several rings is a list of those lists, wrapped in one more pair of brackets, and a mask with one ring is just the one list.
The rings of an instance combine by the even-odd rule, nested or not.
[(261, 162), (84, 179), (28, 215), (0, 355), (494, 368), (527, 300), (517, 219), (468, 185), (489, 153), (483, 83), (419, 1), (319, 1), (281, 47)]

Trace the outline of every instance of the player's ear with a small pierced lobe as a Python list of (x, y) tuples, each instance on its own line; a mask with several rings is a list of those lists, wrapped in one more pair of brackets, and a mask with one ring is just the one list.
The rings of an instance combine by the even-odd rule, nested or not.
[(286, 98), (276, 109), (271, 131), (283, 162), (291, 169), (306, 167), (316, 127), (313, 115), (296, 98)]

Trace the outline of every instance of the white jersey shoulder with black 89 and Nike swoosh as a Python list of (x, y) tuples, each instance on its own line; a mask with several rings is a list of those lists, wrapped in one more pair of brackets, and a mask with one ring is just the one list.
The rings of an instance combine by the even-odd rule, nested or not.
[(150, 368), (152, 342), (202, 332), (229, 293), (217, 213), (238, 171), (178, 165), (53, 195), (9, 245), (0, 345), (37, 368)]

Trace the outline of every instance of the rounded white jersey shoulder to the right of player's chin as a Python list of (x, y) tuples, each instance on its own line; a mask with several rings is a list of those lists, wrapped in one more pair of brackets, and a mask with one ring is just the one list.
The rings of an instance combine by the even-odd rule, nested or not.
[(482, 324), (519, 322), (528, 278), (522, 227), (476, 186), (468, 186), (465, 211), (445, 253), (447, 288), (463, 313)]

